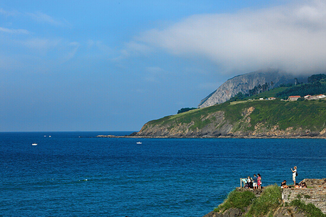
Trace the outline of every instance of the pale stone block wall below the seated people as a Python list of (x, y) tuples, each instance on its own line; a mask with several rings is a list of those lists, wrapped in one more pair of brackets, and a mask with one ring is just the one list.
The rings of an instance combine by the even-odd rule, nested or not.
[(326, 213), (326, 186), (325, 188), (283, 188), (283, 203), (300, 199), (304, 203), (312, 203), (323, 213)]

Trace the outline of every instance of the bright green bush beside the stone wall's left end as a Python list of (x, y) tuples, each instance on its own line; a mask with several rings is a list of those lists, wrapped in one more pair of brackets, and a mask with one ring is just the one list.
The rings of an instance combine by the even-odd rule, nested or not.
[(260, 217), (274, 212), (281, 204), (281, 187), (277, 184), (267, 186), (260, 197), (252, 204), (247, 216)]

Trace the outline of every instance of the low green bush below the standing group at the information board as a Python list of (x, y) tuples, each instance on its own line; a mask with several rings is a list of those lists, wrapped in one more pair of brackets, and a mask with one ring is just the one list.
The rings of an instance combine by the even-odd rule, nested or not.
[(239, 192), (234, 190), (228, 194), (224, 202), (216, 207), (214, 211), (224, 212), (230, 208), (238, 208), (244, 212), (244, 208), (250, 206), (255, 199), (255, 194), (250, 191)]

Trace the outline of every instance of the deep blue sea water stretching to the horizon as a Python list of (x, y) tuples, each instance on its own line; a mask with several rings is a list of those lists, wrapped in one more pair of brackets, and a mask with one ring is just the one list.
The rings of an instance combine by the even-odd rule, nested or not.
[(326, 177), (325, 139), (95, 137), (130, 133), (0, 133), (0, 216), (200, 217), (254, 173)]

